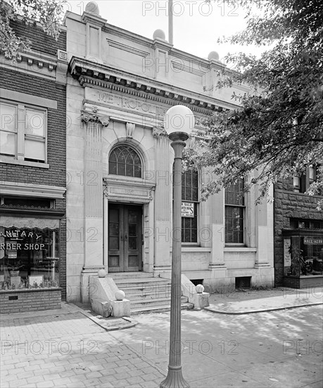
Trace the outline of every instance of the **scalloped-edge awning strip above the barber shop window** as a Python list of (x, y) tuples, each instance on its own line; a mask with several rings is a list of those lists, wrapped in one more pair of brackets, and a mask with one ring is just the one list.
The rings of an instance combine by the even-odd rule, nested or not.
[(0, 226), (19, 229), (58, 229), (59, 219), (0, 216)]

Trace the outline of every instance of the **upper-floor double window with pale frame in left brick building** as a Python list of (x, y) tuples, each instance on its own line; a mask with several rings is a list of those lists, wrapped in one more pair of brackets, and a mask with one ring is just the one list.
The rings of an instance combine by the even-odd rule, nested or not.
[(46, 109), (1, 99), (0, 112), (0, 156), (46, 163)]

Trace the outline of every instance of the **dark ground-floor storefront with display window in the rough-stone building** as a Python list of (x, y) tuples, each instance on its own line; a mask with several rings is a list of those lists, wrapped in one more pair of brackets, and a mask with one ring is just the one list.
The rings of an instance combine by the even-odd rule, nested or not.
[(323, 230), (284, 230), (284, 285), (323, 284)]

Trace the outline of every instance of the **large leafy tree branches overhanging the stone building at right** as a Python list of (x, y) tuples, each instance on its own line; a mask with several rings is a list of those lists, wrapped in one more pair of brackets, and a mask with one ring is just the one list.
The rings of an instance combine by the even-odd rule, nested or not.
[[(217, 87), (247, 85), (233, 95), (241, 107), (217, 112), (205, 123), (205, 138), (186, 151), (189, 164), (211, 166), (214, 181), (205, 197), (249, 174), (246, 190), (260, 197), (281, 177), (323, 164), (323, 2), (315, 0), (225, 0), (247, 12), (243, 32), (219, 42), (270, 45), (260, 58), (228, 54), (229, 70)], [(323, 170), (310, 188), (322, 190)]]

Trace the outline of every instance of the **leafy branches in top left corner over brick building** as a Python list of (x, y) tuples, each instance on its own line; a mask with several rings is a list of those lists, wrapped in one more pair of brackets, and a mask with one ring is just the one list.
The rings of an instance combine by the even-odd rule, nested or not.
[(19, 58), (30, 42), (15, 35), (11, 20), (20, 18), (24, 23), (38, 22), (44, 32), (56, 40), (65, 0), (0, 0), (0, 52), (8, 59)]

